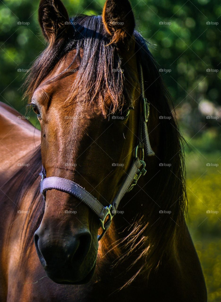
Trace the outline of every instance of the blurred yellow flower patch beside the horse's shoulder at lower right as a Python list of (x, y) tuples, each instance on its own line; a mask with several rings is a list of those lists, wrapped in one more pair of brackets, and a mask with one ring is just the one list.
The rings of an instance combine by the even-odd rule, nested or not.
[[(188, 180), (190, 233), (206, 280), (209, 302), (221, 301), (221, 192), (219, 172)], [(210, 211), (210, 213), (207, 213)], [(217, 214), (213, 213), (219, 212)]]

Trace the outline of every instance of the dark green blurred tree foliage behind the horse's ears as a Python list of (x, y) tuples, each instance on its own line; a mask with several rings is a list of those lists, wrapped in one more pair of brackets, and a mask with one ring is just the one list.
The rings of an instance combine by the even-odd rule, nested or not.
[[(63, 0), (70, 16), (101, 14), (104, 2)], [(131, 0), (131, 3), (137, 30), (151, 43), (159, 69), (169, 70), (162, 73), (175, 104), (187, 102), (190, 111), (204, 99), (221, 105), (221, 71), (206, 72), (206, 69), (219, 69), (221, 62), (221, 22), (214, 24), (220, 20), (220, 2)], [(19, 90), (24, 70), (30, 68), (46, 47), (37, 21), (37, 9), (37, 1), (0, 2), (1, 99), (20, 111), (24, 107)], [(23, 71), (18, 72), (18, 69)]]

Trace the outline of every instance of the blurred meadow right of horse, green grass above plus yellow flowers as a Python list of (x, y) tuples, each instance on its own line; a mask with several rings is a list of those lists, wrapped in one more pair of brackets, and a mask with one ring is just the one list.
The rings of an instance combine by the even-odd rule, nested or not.
[(214, 135), (212, 129), (192, 139), (187, 136), (190, 142), (184, 147), (188, 226), (203, 268), (208, 302), (221, 301), (221, 153)]

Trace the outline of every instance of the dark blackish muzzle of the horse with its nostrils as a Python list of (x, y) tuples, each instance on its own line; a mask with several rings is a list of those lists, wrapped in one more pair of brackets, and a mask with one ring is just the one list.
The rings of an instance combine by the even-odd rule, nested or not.
[(41, 226), (34, 234), (38, 257), (47, 276), (59, 284), (87, 283), (94, 274), (97, 251), (91, 249), (89, 230), (80, 230), (71, 238), (55, 238)]

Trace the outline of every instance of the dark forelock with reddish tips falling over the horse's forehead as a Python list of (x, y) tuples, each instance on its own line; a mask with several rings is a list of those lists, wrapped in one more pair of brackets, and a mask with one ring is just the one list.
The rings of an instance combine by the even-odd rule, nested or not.
[[(110, 44), (101, 16), (78, 16), (71, 19), (73, 35), (50, 44), (34, 62), (24, 84), (24, 96), (31, 99), (34, 91), (47, 78), (59, 61), (71, 50), (75, 55), (69, 68), (79, 63), (77, 76), (70, 91), (68, 101), (89, 100), (102, 97), (103, 103), (110, 105), (114, 112), (121, 108), (131, 95), (131, 85), (125, 82), (124, 73), (133, 82), (133, 70), (126, 70), (118, 46)], [(63, 70), (59, 76), (67, 76)]]

